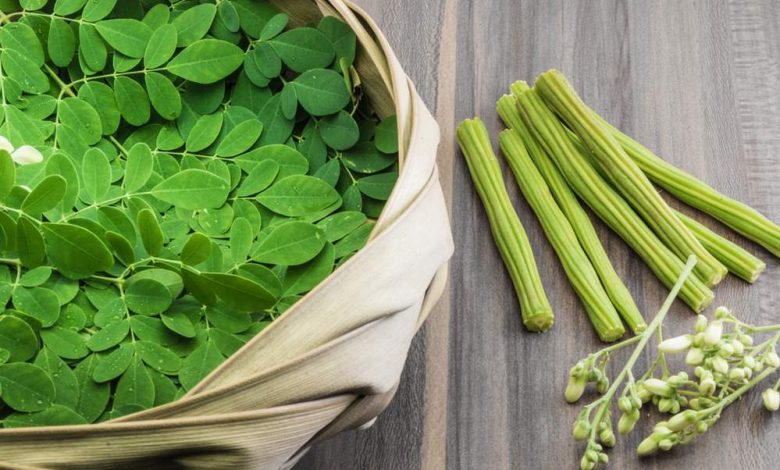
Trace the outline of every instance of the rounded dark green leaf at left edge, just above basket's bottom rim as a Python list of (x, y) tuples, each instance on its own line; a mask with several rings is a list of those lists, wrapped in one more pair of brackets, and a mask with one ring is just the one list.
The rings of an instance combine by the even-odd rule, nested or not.
[(3, 401), (16, 411), (45, 410), (54, 402), (54, 383), (40, 367), (13, 363), (0, 366)]

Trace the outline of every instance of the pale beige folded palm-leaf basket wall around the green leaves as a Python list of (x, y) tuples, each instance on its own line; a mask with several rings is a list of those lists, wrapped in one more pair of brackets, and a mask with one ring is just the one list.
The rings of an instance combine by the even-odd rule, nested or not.
[(179, 401), (119, 420), (0, 430), (2, 468), (288, 468), (370, 422), (441, 295), (453, 245), (438, 127), (374, 22), (343, 0), (276, 0), (296, 24), (355, 30), (374, 109), (398, 116), (399, 181), (368, 245)]

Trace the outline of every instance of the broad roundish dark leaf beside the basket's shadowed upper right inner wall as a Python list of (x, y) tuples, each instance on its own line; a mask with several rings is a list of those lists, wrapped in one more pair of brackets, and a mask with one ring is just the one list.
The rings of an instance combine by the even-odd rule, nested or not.
[(332, 70), (308, 70), (292, 83), (301, 106), (313, 116), (335, 114), (349, 104), (344, 78)]

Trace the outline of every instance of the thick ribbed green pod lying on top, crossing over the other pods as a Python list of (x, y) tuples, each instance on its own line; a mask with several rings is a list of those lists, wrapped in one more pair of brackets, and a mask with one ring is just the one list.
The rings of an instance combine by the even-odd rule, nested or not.
[(656, 235), (685, 259), (696, 255), (699, 263), (695, 273), (707, 285), (714, 286), (728, 273), (712, 254), (699, 243), (655, 190), (647, 176), (631, 159), (612, 133), (596, 119), (594, 112), (577, 95), (566, 77), (557, 70), (539, 76), (535, 85), (544, 101), (580, 137), (599, 161), (609, 180)]

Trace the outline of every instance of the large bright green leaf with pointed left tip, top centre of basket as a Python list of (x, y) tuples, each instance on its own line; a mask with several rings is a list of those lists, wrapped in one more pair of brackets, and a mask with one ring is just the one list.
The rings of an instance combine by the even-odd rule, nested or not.
[(204, 85), (218, 82), (244, 62), (244, 51), (226, 41), (201, 39), (184, 49), (169, 64), (177, 77)]

